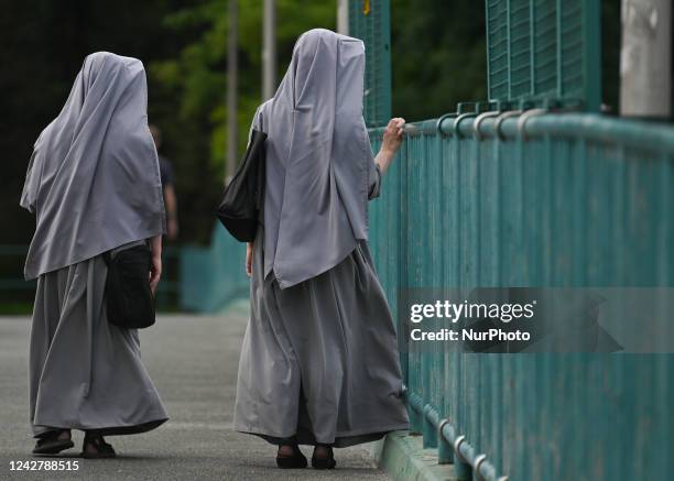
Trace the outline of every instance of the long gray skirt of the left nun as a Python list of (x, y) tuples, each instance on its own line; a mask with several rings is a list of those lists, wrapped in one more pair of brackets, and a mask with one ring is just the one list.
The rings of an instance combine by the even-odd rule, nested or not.
[(54, 429), (143, 433), (167, 419), (138, 332), (108, 323), (106, 275), (97, 256), (37, 280), (29, 365), (35, 437)]

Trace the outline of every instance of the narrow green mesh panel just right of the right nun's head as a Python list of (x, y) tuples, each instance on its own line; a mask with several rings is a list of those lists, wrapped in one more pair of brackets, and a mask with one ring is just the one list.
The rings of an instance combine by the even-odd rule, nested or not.
[(391, 118), (390, 0), (349, 0), (349, 35), (366, 45), (363, 117), (382, 125)]

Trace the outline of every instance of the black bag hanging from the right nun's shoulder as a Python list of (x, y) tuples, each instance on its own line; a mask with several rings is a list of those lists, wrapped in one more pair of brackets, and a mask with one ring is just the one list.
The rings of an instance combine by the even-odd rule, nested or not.
[(237, 240), (252, 242), (258, 230), (258, 217), (264, 203), (267, 134), (252, 131), (246, 155), (229, 185), (216, 212), (222, 226)]

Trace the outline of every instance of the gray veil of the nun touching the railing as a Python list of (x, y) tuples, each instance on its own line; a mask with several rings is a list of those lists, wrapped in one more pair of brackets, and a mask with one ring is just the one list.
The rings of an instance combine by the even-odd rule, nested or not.
[(285, 288), (343, 261), (368, 237), (377, 175), (362, 118), (365, 46), (316, 29), (295, 44), (253, 127), (268, 134), (264, 276)]

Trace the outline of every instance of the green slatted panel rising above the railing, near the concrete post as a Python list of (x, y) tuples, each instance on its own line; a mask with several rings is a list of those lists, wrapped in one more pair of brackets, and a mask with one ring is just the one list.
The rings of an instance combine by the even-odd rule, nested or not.
[(599, 111), (599, 0), (486, 0), (489, 99)]

